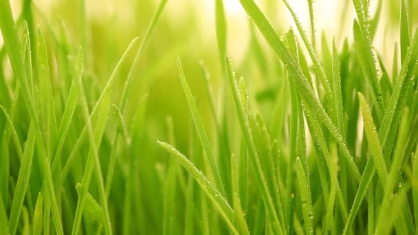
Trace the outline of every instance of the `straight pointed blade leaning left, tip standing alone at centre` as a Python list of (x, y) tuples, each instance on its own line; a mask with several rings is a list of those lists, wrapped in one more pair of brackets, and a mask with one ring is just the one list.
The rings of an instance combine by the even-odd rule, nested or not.
[(184, 75), (183, 68), (181, 67), (180, 58), (177, 58), (177, 68), (179, 70), (181, 86), (183, 87), (184, 94), (186, 95), (188, 106), (190, 108), (190, 113), (192, 114), (193, 122), (195, 122), (195, 127), (197, 130), (197, 134), (199, 135), (201, 145), (203, 146), (203, 150), (206, 154), (206, 158), (208, 159), (210, 172), (212, 173), (214, 183), (219, 189), (219, 191), (221, 192), (221, 194), (223, 195), (223, 197), (225, 197), (225, 189), (223, 188), (221, 173), (219, 172), (216, 159), (214, 158), (212, 148), (210, 147), (208, 135), (206, 135), (206, 131), (203, 126), (203, 122), (201, 121), (199, 111), (197, 110), (196, 102), (195, 102), (195, 99), (193, 98), (192, 91), (190, 90), (190, 87), (188, 87), (186, 76)]

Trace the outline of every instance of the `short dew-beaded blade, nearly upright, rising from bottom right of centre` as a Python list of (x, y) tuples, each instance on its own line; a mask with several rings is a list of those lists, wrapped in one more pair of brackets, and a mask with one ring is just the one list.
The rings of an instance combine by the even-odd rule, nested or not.
[(305, 232), (306, 234), (314, 234), (314, 210), (312, 208), (311, 189), (299, 157), (296, 158), (296, 172), (298, 175), (300, 203), (302, 203), (303, 219), (305, 221)]

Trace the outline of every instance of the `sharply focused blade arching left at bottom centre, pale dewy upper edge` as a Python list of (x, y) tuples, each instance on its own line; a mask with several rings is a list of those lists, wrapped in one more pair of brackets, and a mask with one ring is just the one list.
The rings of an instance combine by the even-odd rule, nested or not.
[(164, 142), (157, 142), (162, 148), (168, 151), (175, 156), (179, 164), (183, 166), (187, 172), (199, 183), (203, 192), (210, 198), (210, 200), (214, 203), (215, 207), (228, 224), (232, 232), (238, 234), (236, 227), (233, 225), (232, 221), (234, 221), (234, 211), (225, 200), (225, 198), (221, 195), (221, 192), (215, 188), (215, 186), (210, 183), (208, 178), (206, 178), (203, 173), (196, 168), (195, 165), (190, 162), (186, 156), (182, 155), (177, 149), (170, 144)]

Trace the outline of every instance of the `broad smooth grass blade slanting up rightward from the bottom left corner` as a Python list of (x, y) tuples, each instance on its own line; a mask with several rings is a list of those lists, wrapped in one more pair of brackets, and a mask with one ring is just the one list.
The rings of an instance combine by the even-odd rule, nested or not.
[(26, 189), (28, 188), (30, 172), (32, 168), (32, 159), (34, 155), (34, 127), (31, 125), (28, 133), (28, 140), (25, 144), (25, 151), (23, 152), (23, 158), (21, 162), (21, 168), (19, 169), (19, 177), (17, 178), (16, 189), (14, 190), (12, 209), (10, 210), (9, 218), (9, 232), (10, 234), (16, 234), (17, 226), (19, 224), (19, 218), (21, 215), (21, 209), (23, 200), (25, 199)]

